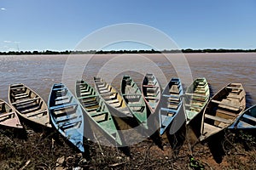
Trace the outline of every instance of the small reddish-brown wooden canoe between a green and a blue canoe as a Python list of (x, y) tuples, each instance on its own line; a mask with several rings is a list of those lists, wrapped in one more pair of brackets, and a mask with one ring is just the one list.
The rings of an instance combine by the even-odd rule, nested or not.
[(149, 111), (153, 114), (160, 104), (161, 88), (160, 83), (154, 74), (147, 73), (142, 83), (143, 99), (148, 105)]

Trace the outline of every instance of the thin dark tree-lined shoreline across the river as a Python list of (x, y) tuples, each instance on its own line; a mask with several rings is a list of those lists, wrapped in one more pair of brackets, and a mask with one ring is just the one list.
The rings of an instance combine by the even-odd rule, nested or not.
[(215, 54), (215, 53), (256, 53), (256, 49), (173, 49), (155, 51), (151, 50), (111, 50), (111, 51), (9, 51), (0, 52), (0, 55), (49, 55), (49, 54)]

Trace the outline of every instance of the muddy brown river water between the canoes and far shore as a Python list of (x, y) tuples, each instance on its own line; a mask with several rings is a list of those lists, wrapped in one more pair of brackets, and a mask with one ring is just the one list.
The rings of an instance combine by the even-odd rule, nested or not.
[[(177, 67), (167, 60), (175, 56), (177, 60), (174, 59), (172, 64)], [(118, 90), (124, 74), (129, 74), (140, 87), (145, 71), (156, 72), (162, 88), (165, 88), (165, 80), (177, 77), (175, 68), (179, 68), (179, 73), (185, 75), (182, 79), (186, 82), (183, 83), (184, 88), (191, 82), (191, 78), (196, 77), (207, 78), (212, 94), (216, 94), (230, 82), (241, 82), (247, 92), (247, 106), (256, 104), (255, 53), (185, 54), (189, 67), (186, 62), (179, 62), (183, 59), (177, 58), (177, 54), (98, 54), (92, 59), (90, 57), (91, 55), (85, 54), (2, 55), (0, 56), (0, 99), (8, 101), (9, 84), (24, 83), (47, 102), (51, 86), (61, 82), (63, 75), (65, 81), (69, 81), (67, 85), (72, 88), (75, 79), (79, 77), (83, 77), (93, 86), (93, 77), (99, 72), (103, 79), (112, 82), (113, 87)], [(68, 64), (67, 59), (69, 59)], [(86, 63), (87, 61), (89, 62)], [(84, 70), (79, 73), (81, 68), (78, 65), (85, 64)], [(159, 74), (158, 70), (162, 71), (164, 76)], [(69, 71), (71, 72), (66, 76)]]

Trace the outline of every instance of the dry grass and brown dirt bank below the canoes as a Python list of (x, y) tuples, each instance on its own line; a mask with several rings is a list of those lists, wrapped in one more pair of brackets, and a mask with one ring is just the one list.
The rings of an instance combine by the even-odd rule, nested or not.
[[(0, 169), (253, 169), (256, 144), (252, 133), (225, 131), (217, 144), (218, 156), (209, 144), (195, 144), (188, 137), (179, 144), (146, 139), (126, 148), (99, 147), (85, 140), (84, 155), (54, 131), (0, 130)], [(215, 141), (216, 143), (218, 141)], [(214, 143), (214, 142), (213, 142)], [(210, 149), (209, 149), (210, 148)], [(56, 167), (57, 160), (63, 161)], [(218, 160), (220, 159), (220, 161)], [(58, 160), (58, 161), (59, 161)], [(216, 161), (217, 160), (217, 161)]]

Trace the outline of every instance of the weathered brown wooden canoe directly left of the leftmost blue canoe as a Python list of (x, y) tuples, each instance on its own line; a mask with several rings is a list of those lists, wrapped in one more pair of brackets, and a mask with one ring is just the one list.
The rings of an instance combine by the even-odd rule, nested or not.
[(24, 84), (11, 84), (9, 86), (9, 103), (15, 111), (26, 120), (36, 122), (45, 127), (49, 123), (49, 110), (38, 94)]

